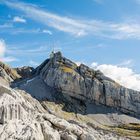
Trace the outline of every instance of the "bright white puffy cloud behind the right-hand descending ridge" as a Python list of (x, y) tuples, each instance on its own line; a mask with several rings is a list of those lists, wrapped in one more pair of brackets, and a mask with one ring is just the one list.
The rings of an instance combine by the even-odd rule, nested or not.
[[(94, 63), (91, 67), (94, 67)], [(136, 74), (131, 68), (107, 64), (96, 65), (94, 68), (101, 70), (107, 77), (121, 85), (140, 91), (140, 74)]]

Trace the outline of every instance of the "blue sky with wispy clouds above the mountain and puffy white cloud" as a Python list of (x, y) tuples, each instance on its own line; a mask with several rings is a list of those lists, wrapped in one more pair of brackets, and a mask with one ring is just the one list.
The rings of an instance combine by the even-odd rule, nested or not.
[(36, 66), (55, 48), (75, 62), (140, 73), (139, 13), (140, 0), (1, 0), (0, 58)]

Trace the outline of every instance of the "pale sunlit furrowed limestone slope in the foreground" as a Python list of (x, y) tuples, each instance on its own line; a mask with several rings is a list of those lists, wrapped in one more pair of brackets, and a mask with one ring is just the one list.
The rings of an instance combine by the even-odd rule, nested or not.
[(1, 140), (127, 140), (74, 124), (45, 110), (39, 101), (21, 90), (0, 85)]

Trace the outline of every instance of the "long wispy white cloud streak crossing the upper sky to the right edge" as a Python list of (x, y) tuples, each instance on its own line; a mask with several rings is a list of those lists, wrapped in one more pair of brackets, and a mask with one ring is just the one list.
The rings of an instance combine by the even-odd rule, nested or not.
[(37, 6), (3, 0), (4, 4), (20, 10), (31, 19), (76, 37), (94, 35), (111, 39), (140, 39), (139, 22), (111, 23), (100, 20), (80, 20), (50, 13)]

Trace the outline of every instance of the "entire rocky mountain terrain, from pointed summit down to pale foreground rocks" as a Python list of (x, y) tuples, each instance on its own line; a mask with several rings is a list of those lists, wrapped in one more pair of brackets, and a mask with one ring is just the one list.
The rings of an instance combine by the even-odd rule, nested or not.
[(140, 139), (140, 92), (53, 53), (36, 69), (0, 63), (0, 140)]

